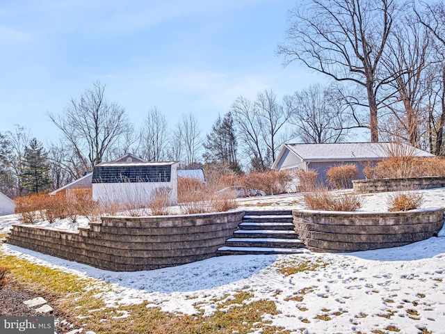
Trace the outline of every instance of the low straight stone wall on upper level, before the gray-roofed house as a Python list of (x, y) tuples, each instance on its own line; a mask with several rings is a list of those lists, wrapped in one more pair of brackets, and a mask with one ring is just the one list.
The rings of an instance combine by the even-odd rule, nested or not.
[(445, 187), (445, 177), (405, 177), (402, 179), (353, 180), (355, 193), (381, 193), (403, 189)]

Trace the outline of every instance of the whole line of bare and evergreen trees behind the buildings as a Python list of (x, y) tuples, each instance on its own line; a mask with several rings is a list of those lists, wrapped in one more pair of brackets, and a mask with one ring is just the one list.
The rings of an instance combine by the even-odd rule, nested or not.
[[(239, 96), (202, 134), (191, 112), (171, 122), (154, 106), (136, 129), (99, 81), (49, 113), (60, 132), (43, 147), (17, 126), (0, 133), (0, 190), (11, 197), (57, 189), (102, 161), (133, 153), (181, 168), (244, 173), (270, 168), (282, 143), (336, 143), (354, 129), (444, 154), (445, 7), (442, 2), (304, 0), (289, 10), (277, 54), (324, 84), (277, 97)], [(304, 78), (302, 78), (304, 79)]]

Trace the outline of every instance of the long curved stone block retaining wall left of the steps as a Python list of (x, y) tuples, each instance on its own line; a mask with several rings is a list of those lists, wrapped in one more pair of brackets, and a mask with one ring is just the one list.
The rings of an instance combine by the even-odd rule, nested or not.
[(14, 225), (6, 242), (101, 269), (150, 270), (212, 257), (243, 215), (102, 217), (78, 232)]

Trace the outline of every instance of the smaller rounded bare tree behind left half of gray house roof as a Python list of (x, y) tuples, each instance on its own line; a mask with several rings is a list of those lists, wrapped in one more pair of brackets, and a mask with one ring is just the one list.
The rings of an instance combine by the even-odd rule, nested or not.
[(303, 143), (338, 143), (348, 134), (348, 117), (334, 95), (332, 88), (317, 84), (289, 97), (295, 106), (289, 122)]

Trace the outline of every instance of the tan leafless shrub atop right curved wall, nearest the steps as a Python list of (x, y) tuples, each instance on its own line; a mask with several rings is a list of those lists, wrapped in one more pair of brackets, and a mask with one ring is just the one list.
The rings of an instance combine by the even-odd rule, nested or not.
[(323, 211), (357, 211), (363, 205), (363, 198), (359, 195), (334, 194), (325, 188), (303, 195), (305, 205), (310, 210)]

